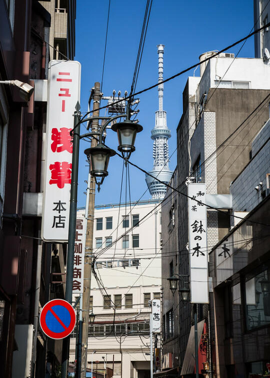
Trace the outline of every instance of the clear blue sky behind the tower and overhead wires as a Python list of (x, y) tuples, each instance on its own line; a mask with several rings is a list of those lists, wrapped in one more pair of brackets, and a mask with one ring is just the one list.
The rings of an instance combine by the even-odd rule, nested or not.
[[(129, 93), (133, 77), (137, 48), (146, 0), (111, 0), (106, 59), (104, 67), (104, 96), (112, 90)], [(108, 0), (93, 2), (77, 1), (76, 10), (76, 55), (81, 63), (81, 111), (87, 111), (89, 93), (94, 82), (101, 82), (104, 54)], [(157, 82), (156, 45), (165, 45), (164, 79), (198, 62), (200, 54), (206, 51), (221, 50), (247, 35), (253, 27), (252, 0), (153, 0), (148, 30), (142, 55), (136, 91)], [(229, 50), (237, 53), (241, 45)], [(254, 40), (251, 37), (241, 50), (239, 57), (254, 57)], [(199, 75), (199, 68), (195, 76)], [(188, 76), (193, 70), (164, 84), (163, 109), (167, 112), (167, 126), (171, 130), (169, 154), (176, 148), (176, 128), (182, 114), (182, 91)], [(106, 105), (105, 101), (101, 105)], [(154, 126), (154, 112), (158, 109), (157, 88), (140, 95), (139, 123), (143, 131), (137, 135), (135, 152), (130, 161), (145, 170), (152, 168), (152, 140), (150, 131)], [(101, 111), (100, 115), (104, 115)], [(83, 132), (84, 126), (81, 128)], [(116, 134), (108, 131), (106, 144), (117, 148)], [(83, 150), (89, 147), (86, 142), (80, 145), (78, 206), (85, 205), (85, 192), (88, 167)], [(176, 152), (170, 159), (170, 169), (176, 166)], [(144, 174), (130, 167), (131, 201), (136, 201), (146, 190)], [(96, 191), (95, 204), (117, 203), (121, 185), (122, 160), (115, 156), (110, 159), (109, 175), (104, 179), (101, 190)], [(148, 191), (142, 199), (150, 198)], [(122, 197), (124, 201), (124, 197)]]

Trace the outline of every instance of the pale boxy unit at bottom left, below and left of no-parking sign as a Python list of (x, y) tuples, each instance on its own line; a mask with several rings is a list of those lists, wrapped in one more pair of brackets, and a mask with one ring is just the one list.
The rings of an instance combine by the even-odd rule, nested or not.
[(33, 334), (32, 324), (15, 325), (17, 350), (13, 351), (12, 378), (29, 378), (31, 376)]

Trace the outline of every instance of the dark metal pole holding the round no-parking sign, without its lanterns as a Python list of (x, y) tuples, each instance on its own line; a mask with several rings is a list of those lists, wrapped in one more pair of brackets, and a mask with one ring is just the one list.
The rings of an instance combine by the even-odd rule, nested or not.
[[(76, 108), (77, 109), (74, 112), (74, 126), (76, 126), (80, 120), (80, 112), (79, 112), (78, 104), (76, 105)], [(67, 243), (67, 257), (66, 257), (65, 300), (69, 302), (70, 304), (72, 302), (73, 260), (74, 260), (75, 232), (76, 232), (79, 132), (80, 132), (80, 125), (76, 127), (73, 134), (68, 243)], [(66, 375), (67, 375), (68, 354), (69, 354), (69, 336), (63, 339), (61, 378), (66, 378)]]

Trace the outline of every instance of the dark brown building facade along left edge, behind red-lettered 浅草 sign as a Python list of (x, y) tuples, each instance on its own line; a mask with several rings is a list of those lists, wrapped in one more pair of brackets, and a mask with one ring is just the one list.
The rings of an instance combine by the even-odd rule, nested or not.
[[(69, 59), (74, 10), (70, 0)], [(44, 303), (64, 297), (66, 254), (65, 245), (40, 239), (50, 26), (40, 2), (0, 0), (0, 80), (34, 87), (24, 101), (17, 88), (0, 85), (0, 364), (8, 378), (55, 376), (61, 362), (61, 342), (47, 340), (38, 325)]]

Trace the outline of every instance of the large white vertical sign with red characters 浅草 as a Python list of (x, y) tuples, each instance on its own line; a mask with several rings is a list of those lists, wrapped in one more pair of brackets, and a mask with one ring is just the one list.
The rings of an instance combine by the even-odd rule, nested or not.
[(79, 102), (80, 63), (50, 61), (41, 237), (67, 242), (73, 112)]

